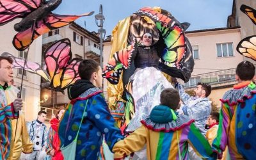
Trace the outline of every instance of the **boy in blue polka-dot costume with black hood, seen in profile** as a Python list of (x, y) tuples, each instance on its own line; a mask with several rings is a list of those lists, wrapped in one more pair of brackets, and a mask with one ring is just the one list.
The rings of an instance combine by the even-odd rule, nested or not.
[[(61, 147), (67, 147), (76, 141), (75, 159), (98, 159), (102, 140), (106, 140), (112, 150), (116, 141), (122, 140), (120, 129), (115, 125), (109, 113), (108, 104), (102, 91), (102, 70), (94, 60), (81, 61), (78, 73), (81, 79), (68, 88), (71, 99), (58, 133)], [(61, 150), (65, 159), (65, 152)]]

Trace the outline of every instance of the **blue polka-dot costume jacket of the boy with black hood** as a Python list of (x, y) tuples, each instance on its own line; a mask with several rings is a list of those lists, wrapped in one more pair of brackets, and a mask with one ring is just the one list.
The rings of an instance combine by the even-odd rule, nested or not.
[(58, 129), (61, 147), (72, 143), (78, 130), (76, 159), (79, 160), (98, 159), (103, 138), (110, 150), (116, 141), (123, 139), (99, 88), (86, 90), (68, 104)]

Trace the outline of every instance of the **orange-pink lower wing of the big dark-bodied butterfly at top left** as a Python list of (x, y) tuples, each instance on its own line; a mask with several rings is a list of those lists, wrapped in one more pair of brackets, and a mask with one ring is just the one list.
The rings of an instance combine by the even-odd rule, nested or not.
[(28, 48), (28, 46), (38, 38), (38, 36), (43, 35), (51, 31), (52, 29), (58, 29), (63, 26), (74, 22), (74, 20), (78, 19), (79, 17), (92, 15), (94, 12), (84, 13), (83, 15), (56, 15), (50, 13), (45, 19), (39, 20), (36, 22), (35, 27), (27, 29), (26, 31), (22, 31), (17, 33), (17, 35), (13, 38), (13, 45), (19, 51), (24, 51)]

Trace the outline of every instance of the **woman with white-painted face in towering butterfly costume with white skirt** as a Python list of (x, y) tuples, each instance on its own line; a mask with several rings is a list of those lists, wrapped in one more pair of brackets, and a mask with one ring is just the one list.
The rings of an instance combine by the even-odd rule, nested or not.
[(140, 127), (159, 104), (161, 91), (173, 87), (162, 72), (189, 80), (194, 61), (187, 28), (161, 8), (141, 8), (113, 29), (113, 58), (103, 76), (111, 83), (109, 108), (125, 131)]

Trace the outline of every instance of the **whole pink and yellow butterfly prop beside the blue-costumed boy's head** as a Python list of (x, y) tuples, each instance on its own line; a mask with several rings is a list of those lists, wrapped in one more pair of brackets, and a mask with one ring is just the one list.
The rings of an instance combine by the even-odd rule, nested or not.
[(44, 53), (47, 72), (51, 77), (51, 88), (56, 91), (65, 90), (69, 84), (79, 79), (78, 66), (80, 59), (72, 60), (70, 40), (59, 40), (49, 46)]

